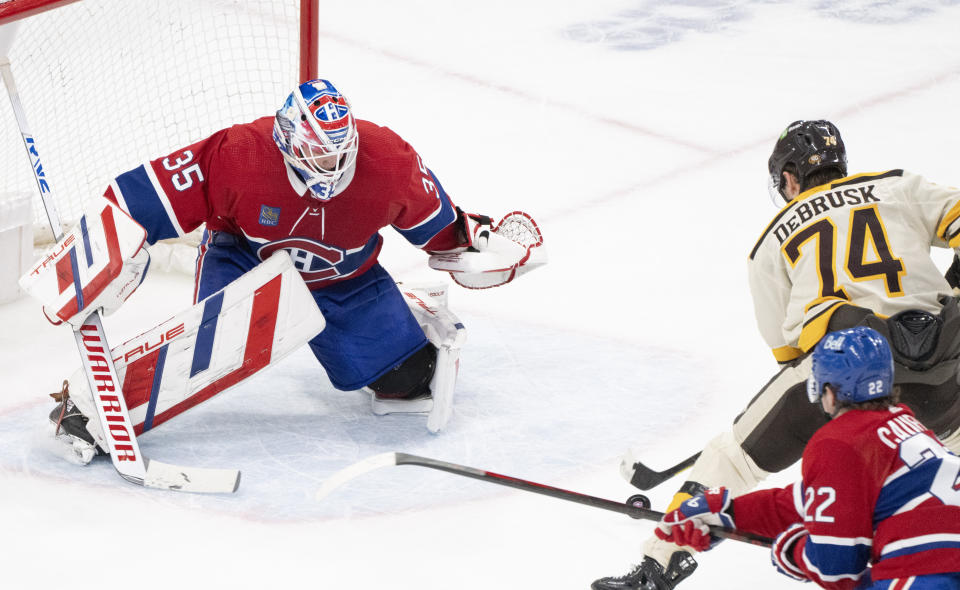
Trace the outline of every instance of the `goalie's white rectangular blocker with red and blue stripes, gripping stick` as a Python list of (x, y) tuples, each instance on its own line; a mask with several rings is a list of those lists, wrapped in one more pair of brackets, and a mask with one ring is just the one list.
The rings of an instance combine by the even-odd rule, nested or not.
[(69, 233), (20, 278), (53, 324), (79, 328), (97, 309), (116, 311), (140, 286), (150, 265), (147, 232), (106, 199), (90, 207)]

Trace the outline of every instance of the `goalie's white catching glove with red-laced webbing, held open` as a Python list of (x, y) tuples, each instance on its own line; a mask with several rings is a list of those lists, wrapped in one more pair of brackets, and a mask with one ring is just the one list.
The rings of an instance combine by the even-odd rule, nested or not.
[(467, 246), (433, 254), (429, 262), (430, 268), (449, 272), (458, 285), (499, 287), (547, 263), (540, 228), (526, 213), (508, 213), (496, 225), (484, 215), (460, 215)]

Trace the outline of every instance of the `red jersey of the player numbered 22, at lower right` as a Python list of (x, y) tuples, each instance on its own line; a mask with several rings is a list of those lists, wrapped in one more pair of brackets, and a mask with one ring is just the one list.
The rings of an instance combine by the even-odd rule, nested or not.
[[(803, 453), (803, 481), (736, 498), (737, 527), (770, 537), (803, 522), (791, 557), (824, 588), (960, 572), (960, 458), (903, 405), (853, 410)], [(799, 572), (798, 572), (799, 573)]]

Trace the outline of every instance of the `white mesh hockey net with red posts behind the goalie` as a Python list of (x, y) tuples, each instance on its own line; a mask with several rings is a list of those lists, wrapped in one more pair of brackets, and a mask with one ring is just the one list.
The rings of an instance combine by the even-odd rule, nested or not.
[[(15, 33), (11, 68), (64, 227), (117, 174), (272, 114), (316, 77), (317, 1), (0, 0), (0, 35)], [(0, 102), (0, 193), (31, 194), (41, 245), (51, 233), (31, 163)]]

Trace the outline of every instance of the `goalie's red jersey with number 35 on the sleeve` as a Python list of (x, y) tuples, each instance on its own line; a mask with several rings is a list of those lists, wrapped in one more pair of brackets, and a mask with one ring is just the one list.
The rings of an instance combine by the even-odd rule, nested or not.
[(311, 289), (359, 276), (393, 226), (430, 251), (458, 245), (457, 212), (440, 182), (393, 131), (357, 121), (352, 178), (328, 201), (307, 196), (272, 139), (273, 117), (234, 125), (118, 176), (106, 192), (147, 230), (147, 241), (201, 224), (242, 237), (266, 260), (290, 252)]

